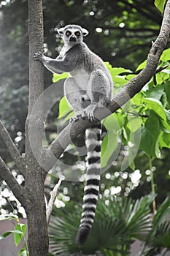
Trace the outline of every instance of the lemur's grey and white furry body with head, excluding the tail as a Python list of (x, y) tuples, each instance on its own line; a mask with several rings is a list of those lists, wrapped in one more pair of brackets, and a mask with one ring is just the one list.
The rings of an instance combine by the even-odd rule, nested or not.
[[(66, 35), (68, 31), (69, 36)], [(80, 33), (79, 37), (76, 35), (77, 32)], [(64, 83), (66, 99), (76, 112), (79, 111), (82, 116), (88, 116), (93, 120), (94, 110), (102, 107), (106, 99), (112, 99), (112, 78), (101, 58), (82, 42), (83, 36), (88, 34), (86, 29), (77, 25), (68, 25), (58, 29), (58, 33), (61, 34), (64, 42), (60, 55), (56, 59), (51, 59), (42, 53), (35, 53), (34, 59), (42, 61), (51, 72), (58, 74), (69, 72), (69, 78)], [(72, 120), (77, 118), (75, 113)]]

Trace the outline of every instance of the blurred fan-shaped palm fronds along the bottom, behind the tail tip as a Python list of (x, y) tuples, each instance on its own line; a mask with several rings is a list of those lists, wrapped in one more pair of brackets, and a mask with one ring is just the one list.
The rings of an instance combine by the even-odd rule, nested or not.
[(56, 216), (51, 219), (50, 252), (52, 255), (123, 256), (129, 255), (134, 239), (143, 242), (141, 256), (157, 255), (163, 248), (169, 250), (170, 199), (163, 202), (152, 219), (150, 203), (153, 199), (154, 195), (136, 201), (128, 197), (98, 200), (93, 228), (81, 248), (74, 242), (81, 206), (68, 203), (65, 208), (57, 209)]

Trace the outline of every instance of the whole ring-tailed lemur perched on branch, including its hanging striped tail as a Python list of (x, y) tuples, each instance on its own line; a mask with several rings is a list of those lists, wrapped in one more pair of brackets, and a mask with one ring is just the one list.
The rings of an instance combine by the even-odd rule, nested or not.
[[(56, 59), (50, 59), (42, 53), (35, 53), (34, 59), (54, 73), (69, 72), (64, 83), (64, 94), (69, 105), (75, 111), (71, 121), (87, 116), (93, 121), (96, 108), (112, 100), (113, 83), (104, 62), (93, 53), (83, 36), (88, 34), (81, 26), (68, 25), (58, 29), (63, 38), (63, 48)], [(85, 143), (88, 151), (85, 194), (83, 197), (82, 217), (77, 233), (77, 243), (84, 244), (90, 233), (96, 212), (100, 182), (101, 159), (101, 124), (96, 128), (86, 129)]]

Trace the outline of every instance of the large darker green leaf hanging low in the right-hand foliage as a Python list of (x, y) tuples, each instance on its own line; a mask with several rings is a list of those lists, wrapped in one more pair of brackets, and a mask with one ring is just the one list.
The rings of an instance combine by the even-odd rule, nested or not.
[(158, 118), (150, 116), (150, 118), (147, 118), (144, 126), (139, 130), (141, 132), (141, 143), (139, 148), (152, 157), (158, 157), (158, 137), (161, 133)]

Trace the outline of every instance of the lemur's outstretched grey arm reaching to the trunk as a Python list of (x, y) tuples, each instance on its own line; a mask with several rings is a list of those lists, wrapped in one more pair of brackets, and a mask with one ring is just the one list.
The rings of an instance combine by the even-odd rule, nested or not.
[(78, 55), (74, 54), (74, 49), (69, 50), (63, 59), (51, 59), (42, 53), (35, 53), (34, 59), (41, 61), (47, 69), (53, 73), (72, 72), (78, 64)]

